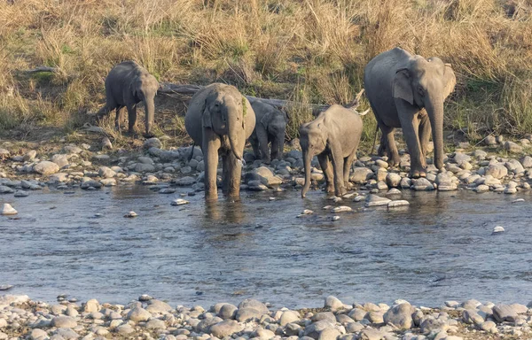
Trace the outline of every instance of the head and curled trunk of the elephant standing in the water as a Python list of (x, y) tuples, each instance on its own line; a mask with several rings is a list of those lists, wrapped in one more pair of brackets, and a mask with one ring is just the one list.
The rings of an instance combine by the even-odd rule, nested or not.
[(239, 160), (242, 160), (246, 144), (245, 116), (248, 110), (251, 108), (246, 106), (246, 98), (239, 90), (225, 86), (208, 94), (201, 116), (203, 128), (211, 128), (216, 135), (227, 135), (231, 151)]

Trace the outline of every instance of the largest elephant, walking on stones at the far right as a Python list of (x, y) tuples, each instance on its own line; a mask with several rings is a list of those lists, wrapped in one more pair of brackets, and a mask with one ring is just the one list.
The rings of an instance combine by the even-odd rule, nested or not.
[(431, 135), (434, 166), (443, 167), (443, 101), (456, 85), (450, 64), (440, 58), (412, 56), (395, 48), (372, 58), (364, 68), (364, 89), (382, 132), (379, 156), (387, 153), (390, 166), (398, 166), (395, 128), (411, 154), (411, 177), (426, 176), (426, 153)]

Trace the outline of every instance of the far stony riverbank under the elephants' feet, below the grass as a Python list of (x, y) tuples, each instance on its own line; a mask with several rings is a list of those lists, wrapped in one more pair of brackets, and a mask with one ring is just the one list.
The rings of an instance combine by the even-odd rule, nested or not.
[[(150, 185), (161, 194), (172, 194), (176, 186), (190, 188), (188, 195), (203, 190), (204, 162), (200, 148), (165, 147), (168, 137), (145, 140), (134, 149), (113, 149), (107, 138), (98, 143), (27, 144), (5, 142), (0, 144), (0, 194), (25, 197), (32, 190), (53, 187), (56, 189), (94, 190), (128, 183)], [(498, 141), (498, 142), (497, 142)], [(532, 157), (527, 155), (528, 139), (519, 144), (505, 142), (502, 138), (486, 145), (474, 147), (460, 143), (446, 155), (442, 172), (428, 166), (426, 178), (408, 177), (410, 156), (401, 150), (401, 166), (389, 168), (387, 158), (364, 156), (359, 158), (350, 175), (355, 194), (343, 197), (366, 201), (367, 206), (387, 205), (399, 195), (399, 189), (450, 191), (467, 189), (481, 193), (495, 191), (515, 194), (530, 189)], [(303, 162), (298, 144), (293, 143), (282, 160), (270, 165), (254, 160), (250, 151), (245, 153), (242, 189), (283, 190), (301, 189)], [(324, 180), (317, 159), (312, 162), (312, 180), (315, 188)], [(221, 170), (221, 169), (219, 169)], [(368, 193), (372, 197), (365, 199)], [(386, 199), (385, 196), (389, 197)], [(351, 198), (354, 197), (354, 198)], [(335, 199), (340, 202), (340, 198)], [(404, 203), (392, 203), (391, 206)], [(16, 207), (15, 207), (16, 208)]]

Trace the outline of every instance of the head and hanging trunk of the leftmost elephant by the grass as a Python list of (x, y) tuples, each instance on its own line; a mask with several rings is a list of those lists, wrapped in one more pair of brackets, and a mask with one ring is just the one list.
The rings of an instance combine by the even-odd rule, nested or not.
[(131, 81), (129, 87), (137, 103), (143, 102), (145, 105), (145, 131), (146, 135), (150, 135), (155, 118), (154, 98), (159, 89), (159, 82), (152, 74), (146, 72)]

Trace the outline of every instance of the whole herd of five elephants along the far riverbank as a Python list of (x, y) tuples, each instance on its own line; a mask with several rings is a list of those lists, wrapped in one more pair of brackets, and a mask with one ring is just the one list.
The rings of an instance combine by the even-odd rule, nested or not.
[[(426, 153), (431, 131), (434, 166), (443, 166), (443, 101), (454, 90), (455, 74), (440, 58), (423, 58), (395, 48), (380, 53), (364, 68), (364, 89), (382, 132), (379, 156), (387, 155), (390, 166), (399, 165), (395, 128), (403, 135), (411, 155), (411, 176), (426, 176)], [(120, 129), (121, 111), (127, 108), (129, 132), (135, 132), (137, 104), (145, 104), (145, 134), (153, 127), (153, 98), (159, 84), (134, 61), (114, 66), (106, 78), (106, 105), (102, 117), (116, 110), (115, 126)], [(310, 161), (317, 156), (324, 172), (328, 194), (341, 197), (349, 189), (349, 169), (363, 131), (362, 114), (332, 105), (315, 120), (301, 125), (300, 143), (305, 169), (301, 197), (310, 186)], [(184, 118), (187, 133), (200, 145), (205, 162), (205, 198), (215, 200), (217, 166), (222, 158), (223, 194), (239, 198), (243, 153), (246, 140), (255, 158), (269, 164), (283, 155), (288, 117), (260, 99), (251, 102), (237, 88), (214, 83), (192, 97)], [(271, 144), (269, 151), (268, 145)]]

